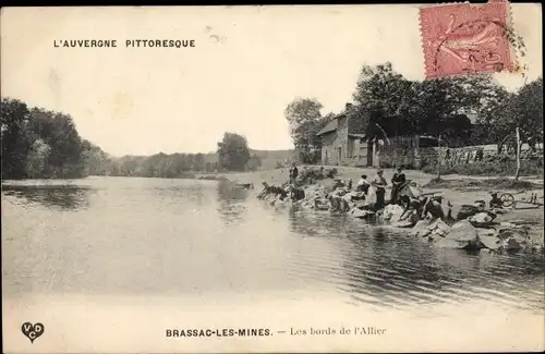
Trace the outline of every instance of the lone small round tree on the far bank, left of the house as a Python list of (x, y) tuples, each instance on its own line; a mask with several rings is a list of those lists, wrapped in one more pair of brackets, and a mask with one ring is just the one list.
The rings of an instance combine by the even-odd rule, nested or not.
[(244, 136), (237, 133), (225, 133), (218, 143), (218, 167), (228, 171), (244, 171), (250, 160), (250, 149)]

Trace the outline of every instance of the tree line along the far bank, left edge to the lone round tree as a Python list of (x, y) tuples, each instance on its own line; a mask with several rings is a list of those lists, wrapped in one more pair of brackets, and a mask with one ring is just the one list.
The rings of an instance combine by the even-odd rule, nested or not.
[(262, 159), (245, 137), (226, 133), (216, 154), (113, 157), (82, 138), (65, 113), (1, 100), (2, 180), (87, 175), (187, 178), (193, 172), (253, 171)]

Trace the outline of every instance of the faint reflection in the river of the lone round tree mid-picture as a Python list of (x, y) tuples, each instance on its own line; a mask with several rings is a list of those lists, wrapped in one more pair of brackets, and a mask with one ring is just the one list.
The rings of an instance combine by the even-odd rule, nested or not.
[(228, 181), (219, 181), (217, 185), (218, 212), (226, 224), (238, 224), (244, 221), (250, 192), (239, 188)]

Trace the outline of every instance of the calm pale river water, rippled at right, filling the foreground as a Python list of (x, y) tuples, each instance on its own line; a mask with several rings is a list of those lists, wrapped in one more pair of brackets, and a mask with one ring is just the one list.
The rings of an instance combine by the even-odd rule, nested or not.
[(438, 249), (347, 216), (274, 209), (256, 193), (194, 180), (8, 182), (2, 288), (10, 319), (20, 319), (15, 308), (37, 306), (53, 321), (83, 303), (96, 314), (129, 303), (157, 313), (162, 304), (164, 319), (167, 304), (175, 312), (191, 303), (197, 314), (252, 303), (255, 313), (275, 298), (284, 309), (313, 304), (380, 318), (468, 322), (469, 314), (494, 308), (543, 320), (542, 257)]

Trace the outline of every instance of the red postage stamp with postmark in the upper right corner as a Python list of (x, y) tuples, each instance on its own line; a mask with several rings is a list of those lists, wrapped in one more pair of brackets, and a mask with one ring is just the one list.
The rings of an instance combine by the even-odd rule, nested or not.
[(509, 9), (501, 0), (421, 9), (426, 78), (511, 71)]

